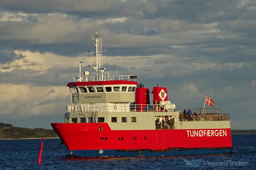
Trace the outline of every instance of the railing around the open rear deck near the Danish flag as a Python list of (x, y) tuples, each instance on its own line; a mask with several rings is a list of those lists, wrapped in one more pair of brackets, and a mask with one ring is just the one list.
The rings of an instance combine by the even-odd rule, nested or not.
[(229, 114), (179, 114), (179, 120), (184, 121), (229, 121)]

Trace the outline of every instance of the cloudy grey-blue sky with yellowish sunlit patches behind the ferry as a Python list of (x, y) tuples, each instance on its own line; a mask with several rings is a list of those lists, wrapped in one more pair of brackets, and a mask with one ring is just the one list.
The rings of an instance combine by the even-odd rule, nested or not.
[[(167, 87), (183, 111), (205, 95), (232, 129), (256, 129), (256, 1), (0, 0), (0, 122), (64, 122), (71, 77), (103, 29), (106, 73)], [(152, 99), (152, 98), (151, 98)]]

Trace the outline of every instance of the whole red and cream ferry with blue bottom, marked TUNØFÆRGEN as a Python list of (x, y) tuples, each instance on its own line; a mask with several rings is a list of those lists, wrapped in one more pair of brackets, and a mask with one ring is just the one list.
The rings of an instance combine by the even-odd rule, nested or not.
[[(95, 63), (67, 87), (71, 103), (64, 123), (51, 126), (70, 155), (81, 157), (150, 157), (229, 154), (230, 117), (220, 109), (199, 108), (197, 114), (175, 111), (166, 87), (145, 88), (136, 75), (105, 73), (103, 37), (95, 33)], [(91, 57), (92, 58), (92, 57)], [(81, 75), (82, 74), (82, 75)], [(157, 84), (157, 82), (156, 82)], [(150, 98), (150, 91), (151, 97)]]

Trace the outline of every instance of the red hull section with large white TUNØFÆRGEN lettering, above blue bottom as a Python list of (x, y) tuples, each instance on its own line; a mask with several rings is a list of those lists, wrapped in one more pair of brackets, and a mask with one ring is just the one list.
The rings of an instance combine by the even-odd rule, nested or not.
[(97, 150), (98, 152), (99, 150), (169, 151), (170, 149), (227, 148), (228, 152), (231, 152), (232, 149), (230, 128), (111, 130), (107, 123), (54, 123), (51, 125), (72, 152), (81, 150)]

